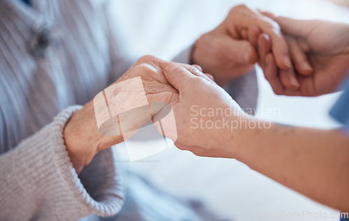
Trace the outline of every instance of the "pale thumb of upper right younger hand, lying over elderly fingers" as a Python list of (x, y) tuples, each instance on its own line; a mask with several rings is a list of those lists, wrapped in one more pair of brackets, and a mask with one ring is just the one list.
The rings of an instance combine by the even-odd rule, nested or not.
[(275, 17), (283, 32), (292, 36), (306, 38), (313, 28), (313, 20), (295, 20), (289, 17)]

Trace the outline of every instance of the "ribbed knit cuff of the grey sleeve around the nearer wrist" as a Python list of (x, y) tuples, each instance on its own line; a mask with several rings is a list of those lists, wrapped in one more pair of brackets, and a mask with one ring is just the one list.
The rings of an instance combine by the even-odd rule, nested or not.
[[(82, 177), (85, 177), (85, 174), (88, 174), (87, 176), (94, 177), (91, 177), (92, 179), (84, 178), (83, 180), (90, 181), (89, 183), (91, 185), (97, 185), (95, 188), (91, 188), (93, 189), (91, 192), (93, 191), (92, 193), (94, 193), (95, 196), (89, 195), (87, 190), (84, 188), (84, 186), (89, 186), (89, 183), (83, 183), (84, 185), (82, 185), (80, 178), (77, 177), (75, 169), (70, 162), (70, 158), (68, 158), (68, 152), (66, 151), (66, 146), (64, 145), (63, 130), (70, 116), (80, 108), (80, 106), (68, 107), (68, 109), (65, 109), (54, 119), (54, 123), (52, 125), (52, 146), (54, 148), (57, 169), (59, 169), (61, 177), (67, 182), (76, 199), (82, 202), (82, 204), (86, 205), (91, 213), (96, 213), (101, 216), (114, 215), (121, 209), (124, 196), (120, 186), (121, 174), (117, 174), (119, 171), (117, 171), (117, 167), (114, 165), (112, 150), (109, 149), (98, 153), (94, 160), (91, 161), (89, 167), (84, 168), (81, 172), (82, 174), (80, 174)], [(103, 160), (101, 160), (101, 158), (103, 158)], [(105, 174), (105, 172), (108, 173)], [(108, 179), (111, 180), (107, 182)], [(107, 187), (105, 186), (106, 184)], [(109, 192), (103, 192), (107, 190)], [(101, 197), (102, 195), (103, 197)], [(96, 200), (99, 201), (94, 199), (96, 197), (98, 197)]]

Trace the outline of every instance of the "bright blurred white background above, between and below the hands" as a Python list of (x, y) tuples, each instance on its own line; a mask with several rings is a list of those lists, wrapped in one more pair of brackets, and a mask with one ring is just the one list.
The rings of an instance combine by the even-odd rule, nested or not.
[[(202, 33), (214, 29), (230, 8), (239, 3), (269, 10), (276, 15), (349, 22), (349, 8), (346, 8), (349, 1), (346, 0), (116, 0), (114, 3), (115, 20), (119, 22), (131, 49), (139, 56), (154, 54), (163, 59), (172, 59)], [(327, 114), (338, 93), (318, 98), (276, 96), (260, 68), (257, 69), (260, 86), (258, 117), (316, 128), (338, 126)], [(276, 111), (270, 114), (269, 110)], [(143, 144), (159, 145), (154, 139)], [(199, 158), (172, 145), (149, 158), (129, 162), (124, 144), (114, 146), (114, 149), (126, 169), (142, 174), (158, 188), (174, 195), (200, 199), (225, 218), (339, 220), (335, 218), (339, 215), (338, 211), (315, 203), (236, 160)], [(313, 218), (287, 217), (299, 212), (313, 213)], [(276, 213), (284, 215), (268, 217)], [(326, 213), (327, 217), (316, 217), (319, 213)]]

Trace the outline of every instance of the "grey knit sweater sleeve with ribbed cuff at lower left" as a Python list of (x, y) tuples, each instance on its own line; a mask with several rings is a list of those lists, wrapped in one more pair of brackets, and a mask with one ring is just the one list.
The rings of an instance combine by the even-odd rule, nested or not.
[(64, 109), (0, 155), (0, 220), (76, 220), (119, 212), (124, 192), (112, 149), (98, 153), (79, 176), (68, 157), (62, 132), (80, 108)]

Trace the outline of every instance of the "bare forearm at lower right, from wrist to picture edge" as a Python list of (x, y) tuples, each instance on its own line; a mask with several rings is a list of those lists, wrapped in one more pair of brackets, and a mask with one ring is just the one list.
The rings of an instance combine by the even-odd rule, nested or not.
[(238, 160), (311, 199), (349, 211), (346, 135), (338, 130), (275, 124), (243, 130), (239, 142), (235, 141)]

